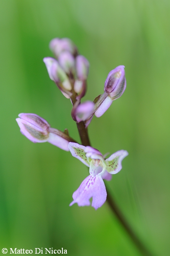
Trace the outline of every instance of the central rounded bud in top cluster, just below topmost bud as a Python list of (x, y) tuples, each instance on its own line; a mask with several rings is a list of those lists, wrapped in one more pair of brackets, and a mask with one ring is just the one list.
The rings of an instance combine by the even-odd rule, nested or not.
[(67, 74), (74, 73), (75, 60), (70, 52), (62, 52), (58, 57), (58, 62)]

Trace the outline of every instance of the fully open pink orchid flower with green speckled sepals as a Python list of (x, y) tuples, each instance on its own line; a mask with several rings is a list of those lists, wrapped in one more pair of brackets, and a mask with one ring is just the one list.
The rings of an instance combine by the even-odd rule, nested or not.
[(101, 152), (95, 148), (89, 146), (84, 147), (72, 142), (69, 143), (68, 147), (72, 156), (90, 167), (90, 175), (83, 180), (80, 187), (73, 193), (73, 202), (69, 206), (75, 203), (78, 206), (89, 206), (89, 199), (92, 197), (91, 206), (97, 210), (97, 208), (104, 204), (107, 197), (103, 179), (111, 180), (112, 174), (121, 171), (121, 162), (128, 155), (128, 152), (120, 150), (104, 160)]

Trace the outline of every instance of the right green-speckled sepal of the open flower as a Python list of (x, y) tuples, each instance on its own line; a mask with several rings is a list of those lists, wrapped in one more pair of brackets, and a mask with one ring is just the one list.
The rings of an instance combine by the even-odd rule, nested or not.
[(106, 159), (106, 170), (108, 173), (116, 174), (121, 171), (121, 162), (126, 156), (128, 156), (128, 152), (126, 150), (119, 150)]

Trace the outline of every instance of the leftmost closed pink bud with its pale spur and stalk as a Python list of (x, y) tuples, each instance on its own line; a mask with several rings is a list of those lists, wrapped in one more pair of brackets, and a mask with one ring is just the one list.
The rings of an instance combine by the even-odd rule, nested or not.
[(46, 142), (57, 146), (63, 150), (69, 151), (69, 141), (74, 141), (67, 134), (55, 128), (51, 128), (49, 123), (36, 114), (21, 113), (16, 118), (16, 122), (20, 127), (20, 132), (30, 141)]

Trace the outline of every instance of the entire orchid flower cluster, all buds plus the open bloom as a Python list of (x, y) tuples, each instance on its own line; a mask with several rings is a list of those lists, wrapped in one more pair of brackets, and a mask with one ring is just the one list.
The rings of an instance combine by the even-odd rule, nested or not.
[[(101, 152), (90, 147), (87, 137), (87, 127), (93, 115), (101, 117), (110, 107), (113, 100), (119, 98), (126, 89), (124, 66), (118, 66), (108, 74), (104, 84), (104, 93), (95, 98), (93, 102), (81, 103), (86, 93), (87, 78), (89, 72), (88, 60), (79, 55), (77, 47), (68, 38), (55, 38), (51, 40), (49, 48), (55, 58), (46, 57), (43, 59), (49, 78), (55, 82), (62, 94), (70, 98), (73, 105), (71, 116), (77, 123), (82, 144), (76, 143), (65, 129), (61, 132), (51, 128), (49, 123), (36, 114), (21, 113), (16, 119), (20, 131), (30, 141), (49, 142), (63, 150), (70, 151), (72, 156), (78, 158), (86, 166), (90, 167), (90, 175), (80, 184), (80, 187), (73, 193), (73, 202), (79, 206), (90, 205), (97, 209), (106, 200), (106, 188), (103, 182), (111, 180), (112, 174), (118, 173), (121, 168), (122, 159), (128, 155), (125, 150), (117, 151), (108, 159), (104, 159)], [(85, 147), (86, 146), (86, 147)]]

